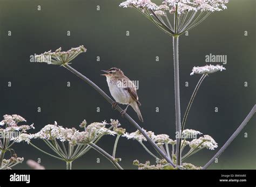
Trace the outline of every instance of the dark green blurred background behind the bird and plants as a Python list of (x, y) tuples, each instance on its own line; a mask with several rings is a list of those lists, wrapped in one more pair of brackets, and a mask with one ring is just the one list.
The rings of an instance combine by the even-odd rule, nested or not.
[[(64, 51), (84, 45), (87, 52), (72, 61), (72, 67), (99, 85), (109, 89), (100, 69), (121, 68), (131, 80), (139, 80), (138, 95), (146, 130), (166, 133), (174, 138), (174, 77), (172, 38), (158, 30), (136, 10), (119, 8), (122, 0), (40, 0), (0, 1), (1, 67), (0, 116), (20, 114), (39, 131), (57, 121), (64, 127), (78, 127), (86, 119), (120, 120), (127, 132), (135, 129), (89, 85), (68, 70), (30, 62), (30, 55), (45, 51)], [(160, 2), (160, 1), (159, 1)], [(223, 73), (205, 79), (194, 100), (186, 124), (211, 135), (222, 146), (255, 104), (255, 1), (231, 0), (228, 9), (215, 12), (202, 24), (180, 37), (181, 112), (193, 92), (199, 75), (190, 76), (193, 66), (204, 66), (205, 55), (227, 55)], [(37, 6), (41, 5), (41, 11)], [(97, 5), (100, 11), (97, 11)], [(11, 31), (11, 37), (8, 36)], [(71, 36), (66, 32), (70, 31)], [(126, 31), (130, 36), (126, 36)], [(248, 31), (248, 36), (244, 32)], [(100, 62), (96, 57), (100, 56)], [(159, 56), (159, 62), (156, 62)], [(8, 87), (8, 82), (12, 87)], [(71, 82), (71, 87), (67, 87)], [(185, 87), (189, 82), (189, 87)], [(248, 82), (248, 87), (244, 87)], [(41, 113), (37, 112), (41, 107)], [(96, 108), (100, 107), (100, 112)], [(159, 113), (156, 112), (159, 107)], [(218, 107), (219, 112), (214, 112)], [(139, 122), (130, 108), (128, 113)], [(244, 138), (248, 133), (248, 138)], [(255, 169), (255, 117), (225, 150), (210, 169)], [(105, 136), (98, 145), (112, 153), (114, 138)], [(35, 140), (39, 147), (45, 145)], [(47, 169), (65, 169), (65, 163), (41, 154), (26, 143), (14, 146), (18, 156), (37, 160)], [(220, 148), (220, 147), (219, 147)], [(151, 149), (151, 147), (150, 147)], [(152, 150), (152, 149), (151, 149)], [(218, 149), (217, 149), (218, 150)], [(202, 150), (186, 162), (203, 166), (217, 150)], [(122, 166), (136, 169), (132, 161), (154, 159), (137, 141), (121, 138), (117, 157)], [(100, 158), (100, 163), (96, 159)], [(16, 168), (28, 168), (24, 163)], [(103, 156), (90, 150), (73, 163), (73, 169), (112, 169)]]

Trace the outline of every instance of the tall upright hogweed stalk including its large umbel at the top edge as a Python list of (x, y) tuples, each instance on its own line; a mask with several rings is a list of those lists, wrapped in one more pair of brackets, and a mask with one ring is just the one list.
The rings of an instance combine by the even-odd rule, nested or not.
[[(226, 9), (228, 0), (164, 0), (157, 5), (151, 0), (127, 0), (119, 6), (134, 8), (173, 38), (174, 95), (176, 132), (182, 133), (179, 91), (179, 36), (199, 25), (212, 12)], [(181, 139), (177, 137), (177, 146)], [(181, 165), (180, 148), (177, 149), (177, 166)]]

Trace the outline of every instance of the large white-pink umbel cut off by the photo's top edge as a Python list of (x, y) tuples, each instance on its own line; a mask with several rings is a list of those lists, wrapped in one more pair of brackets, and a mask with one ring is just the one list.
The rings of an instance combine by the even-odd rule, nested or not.
[(228, 0), (164, 0), (157, 5), (150, 0), (127, 0), (119, 6), (137, 9), (175, 37), (199, 25), (212, 12), (227, 9), (226, 3)]

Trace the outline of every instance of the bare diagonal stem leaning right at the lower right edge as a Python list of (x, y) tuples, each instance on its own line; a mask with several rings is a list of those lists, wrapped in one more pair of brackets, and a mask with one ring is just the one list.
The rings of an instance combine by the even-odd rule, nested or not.
[(221, 153), (224, 152), (224, 150), (230, 145), (230, 143), (237, 137), (237, 135), (242, 131), (242, 129), (246, 126), (248, 121), (252, 118), (253, 114), (256, 111), (256, 105), (253, 106), (251, 112), (247, 115), (244, 121), (242, 121), (241, 125), (237, 128), (237, 130), (231, 135), (231, 137), (226, 141), (226, 143), (223, 145), (223, 147), (220, 148), (220, 150), (212, 157), (212, 159), (205, 164), (203, 169), (207, 169), (214, 160), (221, 155)]

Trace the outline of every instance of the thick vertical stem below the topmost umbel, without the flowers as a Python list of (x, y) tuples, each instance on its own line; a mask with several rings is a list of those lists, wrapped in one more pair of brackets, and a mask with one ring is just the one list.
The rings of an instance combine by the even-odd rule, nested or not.
[(180, 123), (180, 93), (179, 93), (179, 36), (173, 37), (173, 61), (174, 61), (174, 94), (175, 94), (175, 113), (176, 113), (176, 138), (177, 147), (176, 150), (177, 166), (181, 166), (181, 153), (180, 153), (180, 134), (181, 134), (181, 123)]

